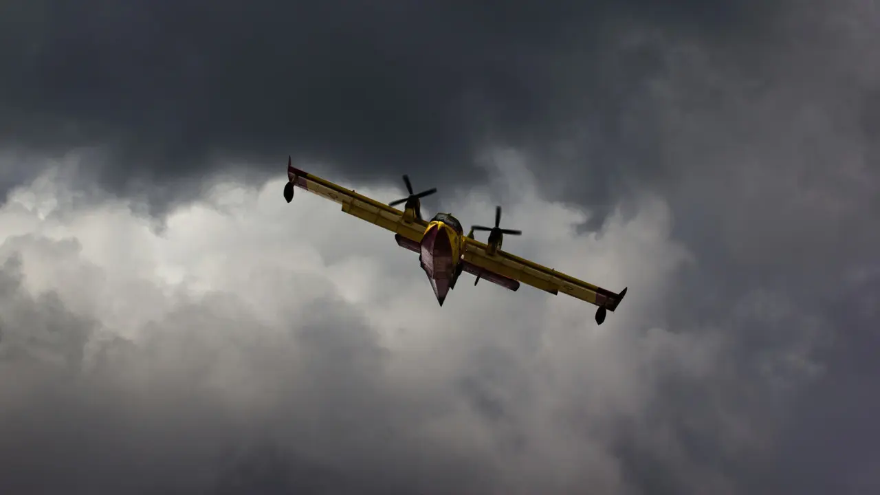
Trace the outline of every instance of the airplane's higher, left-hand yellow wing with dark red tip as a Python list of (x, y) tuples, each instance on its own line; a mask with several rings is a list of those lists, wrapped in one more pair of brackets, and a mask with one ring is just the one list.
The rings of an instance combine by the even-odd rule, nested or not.
[(343, 188), (316, 175), (305, 173), (294, 167), (290, 158), (287, 162), (287, 176), (290, 182), (284, 187), (284, 199), (288, 203), (293, 199), (293, 187), (296, 186), (340, 203), (342, 211), (349, 215), (379, 225), (393, 233), (399, 233), (416, 242), (422, 241), (422, 235), (428, 227), (428, 222), (415, 218), (413, 211), (400, 211), (367, 196), (359, 195), (353, 189)]

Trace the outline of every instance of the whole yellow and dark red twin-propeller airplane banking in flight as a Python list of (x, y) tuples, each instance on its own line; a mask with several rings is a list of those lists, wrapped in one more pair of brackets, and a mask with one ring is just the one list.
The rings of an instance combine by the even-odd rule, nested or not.
[[(568, 294), (598, 306), (596, 322), (601, 325), (608, 311), (614, 311), (627, 295), (627, 288), (615, 293), (593, 284), (578, 280), (559, 271), (546, 268), (536, 262), (525, 260), (502, 251), (504, 234), (521, 235), (517, 230), (502, 229), (501, 206), (495, 209), (495, 226), (473, 225), (467, 235), (461, 223), (450, 213), (437, 213), (426, 221), (422, 218), (422, 198), (436, 193), (430, 188), (414, 193), (407, 175), (403, 176), (409, 195), (384, 204), (353, 189), (343, 188), (314, 174), (307, 174), (287, 159), (288, 182), (284, 185), (284, 199), (293, 201), (294, 187), (303, 188), (318, 196), (342, 205), (342, 211), (361, 218), (394, 233), (400, 247), (406, 247), (419, 255), (422, 270), (428, 276), (431, 288), (440, 306), (451, 289), (455, 288), (462, 272), (472, 274), (476, 285), (487, 280), (510, 291), (517, 291), (519, 284), (528, 284), (542, 291)], [(404, 203), (403, 211), (394, 205)], [(474, 239), (474, 231), (488, 232), (486, 243)]]

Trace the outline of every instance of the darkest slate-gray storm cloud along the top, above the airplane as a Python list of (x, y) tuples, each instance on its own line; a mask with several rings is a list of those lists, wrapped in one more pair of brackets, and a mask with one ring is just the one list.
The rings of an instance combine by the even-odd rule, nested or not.
[(12, 5), (5, 144), (109, 146), (114, 158), (92, 164), (99, 180), (147, 188), (157, 203), (174, 198), (148, 184), (191, 196), (177, 181), (202, 180), (217, 156), (273, 174), (292, 153), (354, 179), (462, 181), (479, 174), (473, 151), (488, 129), (537, 146), (584, 114), (604, 143), (590, 169), (620, 166), (615, 155), (651, 139), (620, 135), (620, 108), (660, 67), (652, 48), (604, 53), (606, 39), (646, 23), (721, 42), (761, 33), (774, 10), (689, 0)]

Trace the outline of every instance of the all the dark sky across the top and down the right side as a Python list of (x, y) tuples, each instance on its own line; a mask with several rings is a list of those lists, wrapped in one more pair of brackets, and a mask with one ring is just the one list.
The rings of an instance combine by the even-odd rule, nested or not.
[[(867, 0), (7, 2), (0, 146), (29, 165), (4, 165), (0, 187), (32, 178), (40, 157), (93, 148), (79, 179), (146, 197), (155, 212), (201, 194), (196, 184), (219, 164), (247, 163), (224, 172), (264, 180), (283, 173), (288, 154), (340, 181), (396, 185), (408, 173), (417, 188), (443, 190), (485, 181), (475, 157), (501, 144), (540, 163), (533, 172), (554, 197), (589, 205), (657, 194), (697, 257), (675, 287), (674, 326), (738, 321), (738, 363), (796, 339), (804, 321), (835, 329), (824, 377), (776, 419), (773, 469), (715, 456), (686, 422), (681, 434), (756, 489), (845, 493), (841, 480), (877, 462), (880, 440), (880, 400), (866, 392), (880, 373), (872, 9)], [(756, 289), (785, 294), (797, 318), (737, 313), (731, 301)], [(730, 380), (748, 388), (752, 377)], [(658, 404), (658, 415), (710, 399), (668, 388), (680, 400)], [(771, 397), (760, 388), (754, 400)], [(666, 483), (627, 445), (620, 452), (644, 486)]]

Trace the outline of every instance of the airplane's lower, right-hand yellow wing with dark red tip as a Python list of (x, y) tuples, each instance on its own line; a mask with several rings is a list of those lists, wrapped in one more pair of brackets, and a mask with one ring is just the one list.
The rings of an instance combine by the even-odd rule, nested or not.
[[(487, 254), (486, 244), (479, 240), (465, 238), (465, 261), (470, 262), (484, 270), (494, 271), (498, 275), (518, 280), (523, 284), (532, 285), (542, 291), (558, 294), (568, 294), (577, 299), (585, 300), (599, 307), (614, 311), (620, 300), (626, 295), (627, 289), (620, 293), (611, 292), (602, 287), (578, 280), (556, 270), (541, 266), (536, 262), (530, 262), (516, 255), (506, 253), (501, 249), (495, 255)], [(602, 318), (605, 318), (604, 311)], [(598, 314), (597, 314), (598, 319)]]

